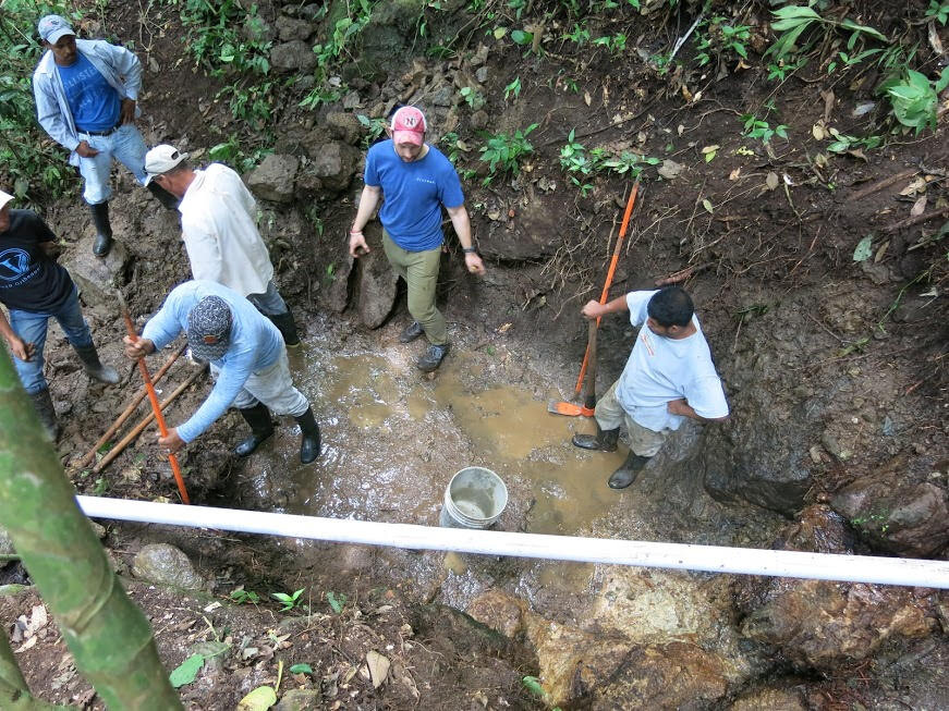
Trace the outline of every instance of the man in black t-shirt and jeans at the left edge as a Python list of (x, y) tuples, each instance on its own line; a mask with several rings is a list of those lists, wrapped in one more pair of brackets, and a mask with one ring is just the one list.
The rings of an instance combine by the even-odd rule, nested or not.
[(23, 388), (33, 399), (44, 427), (59, 433), (49, 384), (42, 376), (42, 346), (50, 318), (59, 321), (90, 377), (119, 382), (119, 373), (99, 361), (89, 327), (83, 319), (76, 285), (51, 256), (56, 235), (29, 210), (11, 210), (13, 196), (0, 191), (0, 334), (7, 340)]

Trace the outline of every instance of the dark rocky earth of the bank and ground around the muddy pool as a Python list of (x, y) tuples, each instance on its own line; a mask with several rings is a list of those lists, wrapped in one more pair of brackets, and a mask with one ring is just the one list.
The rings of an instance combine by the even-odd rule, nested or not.
[[(295, 51), (297, 44), (305, 49), (325, 26), (308, 21), (299, 3), (258, 4), (272, 35), (275, 76), (307, 69), (309, 54)], [(618, 56), (564, 41), (572, 27), (559, 12), (516, 19), (501, 9), (489, 22), (460, 3), (442, 4), (442, 12), (421, 12), (431, 16), (433, 38), (458, 35), (454, 56), (427, 57), (400, 24), (404, 19), (379, 13), (363, 39), (365, 61), (341, 72), (350, 91), (308, 112), (297, 106), (306, 87), (287, 86), (275, 101), (269, 144), (216, 98), (234, 77), (179, 61), (185, 33), (171, 9), (119, 3), (107, 11), (105, 26), (93, 21), (88, 32), (136, 38), (149, 68), (142, 101), (149, 143), (174, 143), (198, 163), (231, 135), (272, 145), (245, 180), (259, 198), (281, 292), (314, 347), (331, 353), (388, 354), (405, 317), (381, 249), (356, 263), (345, 254), (368, 138), (356, 117), (385, 117), (398, 100), (423, 107), (429, 137), (457, 154), (460, 170), (473, 171), (466, 200), (488, 273), (475, 280), (463, 272), (452, 236), (441, 280), (459, 351), (474, 354), (471, 363), (485, 373), (480, 384), (478, 375), (466, 382), (470, 391), (487, 388), (489, 376), (538, 399), (545, 380), (556, 383), (560, 393), (553, 394), (570, 394), (586, 345), (577, 311), (599, 296), (632, 182), (597, 173), (584, 179), (591, 187), (582, 194), (560, 167), (571, 130), (587, 149), (658, 158), (642, 173), (612, 293), (662, 279), (684, 284), (732, 417), (686, 429), (661, 477), (637, 482), (620, 500), (646, 512), (650, 526), (637, 528), (613, 508), (609, 525), (583, 532), (949, 560), (947, 262), (939, 242), (949, 200), (945, 119), (918, 136), (887, 134), (876, 78), (829, 75), (819, 61), (775, 91), (758, 61), (764, 44), (752, 52), (756, 61), (722, 57), (702, 68), (690, 42), (679, 56), (682, 65), (660, 74), (649, 57), (667, 50), (691, 20), (683, 15), (677, 26), (674, 13), (656, 10), (657, 3), (644, 2), (643, 14), (617, 10), (591, 21), (594, 37), (626, 35), (629, 49)], [(855, 3), (851, 14), (887, 34), (904, 27), (883, 4)], [(922, 7), (908, 3), (907, 12), (920, 14)], [(770, 37), (766, 13), (743, 16), (754, 37)], [(508, 35), (473, 32), (482, 22), (488, 30), (544, 22), (545, 51), (527, 53)], [(934, 32), (949, 41), (945, 28)], [(374, 57), (386, 60), (374, 63)], [(930, 52), (925, 61), (935, 68), (944, 60)], [(515, 77), (520, 95), (506, 98)], [(482, 94), (485, 106), (473, 110), (462, 87)], [(786, 124), (790, 137), (765, 146), (744, 135), (740, 117), (770, 98), (771, 122)], [(857, 111), (871, 101), (877, 102), (873, 111)], [(488, 171), (476, 147), (487, 134), (534, 122), (534, 150), (521, 173), (484, 185)], [(886, 135), (887, 142), (831, 154), (825, 127)], [(120, 361), (123, 327), (111, 285), (144, 319), (188, 275), (175, 216), (127, 174), (117, 173), (115, 181), (120, 245), (106, 260), (92, 257), (93, 235), (74, 197), (45, 207), (68, 245), (65, 262), (82, 286), (96, 341), (112, 363)], [(924, 197), (924, 216), (933, 219), (918, 221), (912, 210)], [(874, 235), (873, 256), (854, 261), (867, 234)], [(619, 320), (604, 322), (600, 390), (621, 370), (631, 335)], [(137, 387), (133, 369), (125, 368), (121, 389), (99, 389), (61, 335), (50, 339), (47, 360), (65, 428), (58, 446), (76, 489), (174, 500), (150, 434), (102, 473), (76, 466)], [(169, 382), (186, 372), (177, 367)], [(188, 412), (206, 389), (198, 381), (172, 412)], [(330, 446), (358, 449), (365, 430), (343, 424), (340, 402), (328, 399), (321, 415)], [(418, 441), (448, 429), (438, 418), (450, 419), (450, 410), (439, 406), (435, 419), (418, 425)], [(268, 469), (272, 481), (244, 486), (260, 477), (253, 464), (229, 455), (241, 427), (229, 415), (188, 448), (183, 461), (192, 500), (285, 510), (294, 490), (280, 466)], [(451, 456), (477, 452), (461, 428), (451, 432), (458, 439)], [(370, 437), (389, 442), (396, 433)], [(531, 456), (536, 453), (524, 458)], [(527, 526), (525, 508), (511, 512), (501, 527)], [(372, 513), (399, 520), (402, 512)], [(429, 524), (437, 516), (419, 515), (418, 523)], [(233, 708), (256, 686), (277, 684), (280, 663), (281, 709), (949, 707), (949, 597), (936, 589), (597, 566), (581, 572), (577, 592), (562, 579), (560, 588), (545, 587), (543, 568), (525, 575), (518, 562), (465, 556), (460, 572), (450, 562), (446, 572), (440, 556), (294, 548), (219, 531), (112, 525), (104, 537), (130, 594), (153, 622), (168, 667), (194, 653), (207, 658), (182, 689), (190, 708)], [(187, 554), (173, 566), (173, 580), (136, 565), (155, 544)], [(11, 580), (23, 577), (19, 566), (5, 573)], [(555, 568), (555, 577), (568, 575)], [(308, 599), (284, 614), (273, 600), (235, 604), (238, 588), (264, 598), (265, 590), (305, 588)], [(35, 694), (100, 708), (33, 589), (11, 592), (0, 609)], [(291, 673), (294, 664), (313, 673)], [(540, 679), (543, 696), (532, 694), (525, 676)]]

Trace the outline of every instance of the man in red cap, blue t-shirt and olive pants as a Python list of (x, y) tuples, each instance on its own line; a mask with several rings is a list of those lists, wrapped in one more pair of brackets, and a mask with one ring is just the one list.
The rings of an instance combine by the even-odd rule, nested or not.
[(369, 148), (365, 186), (350, 229), (350, 254), (360, 257), (369, 252), (363, 228), (384, 199), (379, 210), (382, 247), (392, 269), (409, 285), (409, 312), (414, 319), (399, 340), (409, 343), (425, 333), (429, 346), (417, 365), (421, 370), (431, 372), (449, 350), (445, 317), (435, 306), (445, 241), (442, 206), (461, 242), (467, 270), (483, 274), (485, 266), (472, 245), (471, 221), (454, 166), (435, 146), (425, 143), (426, 130), (422, 111), (402, 107), (386, 127), (389, 140)]

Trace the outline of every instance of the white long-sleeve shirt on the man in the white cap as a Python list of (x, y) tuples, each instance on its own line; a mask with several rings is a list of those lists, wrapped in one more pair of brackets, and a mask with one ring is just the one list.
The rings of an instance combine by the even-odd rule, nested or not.
[(257, 204), (238, 173), (221, 163), (196, 170), (178, 209), (195, 279), (241, 296), (267, 291), (273, 266), (257, 231)]

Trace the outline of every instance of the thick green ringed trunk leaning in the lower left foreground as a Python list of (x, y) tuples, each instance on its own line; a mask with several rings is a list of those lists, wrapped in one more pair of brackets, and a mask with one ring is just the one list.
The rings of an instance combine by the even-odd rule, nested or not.
[[(110, 709), (181, 709), (151, 627), (125, 596), (0, 348), (0, 522), (76, 669)], [(8, 677), (8, 682), (10, 682)]]

